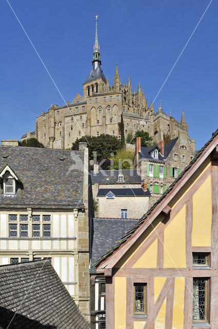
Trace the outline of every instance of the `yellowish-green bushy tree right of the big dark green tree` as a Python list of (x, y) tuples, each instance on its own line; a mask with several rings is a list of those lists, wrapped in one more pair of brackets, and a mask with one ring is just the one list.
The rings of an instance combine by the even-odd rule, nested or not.
[(113, 161), (113, 169), (133, 169), (134, 154), (134, 151), (125, 149), (118, 151), (115, 156), (111, 157), (111, 162)]

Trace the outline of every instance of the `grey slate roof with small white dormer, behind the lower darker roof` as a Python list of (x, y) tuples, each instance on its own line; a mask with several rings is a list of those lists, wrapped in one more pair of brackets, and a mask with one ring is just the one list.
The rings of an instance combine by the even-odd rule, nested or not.
[[(118, 174), (122, 173), (124, 175), (124, 182), (119, 183)], [(140, 184), (142, 179), (140, 175), (137, 174), (136, 170), (100, 170), (98, 173), (94, 174), (91, 171), (92, 184)]]

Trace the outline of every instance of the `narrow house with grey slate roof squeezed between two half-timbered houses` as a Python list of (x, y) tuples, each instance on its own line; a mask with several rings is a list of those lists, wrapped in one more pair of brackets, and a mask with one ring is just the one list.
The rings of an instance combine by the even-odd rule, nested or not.
[(106, 328), (106, 282), (105, 277), (96, 272), (94, 263), (110, 248), (116, 241), (120, 240), (138, 220), (126, 218), (93, 218), (90, 230), (91, 252), (90, 252), (90, 309), (91, 329)]

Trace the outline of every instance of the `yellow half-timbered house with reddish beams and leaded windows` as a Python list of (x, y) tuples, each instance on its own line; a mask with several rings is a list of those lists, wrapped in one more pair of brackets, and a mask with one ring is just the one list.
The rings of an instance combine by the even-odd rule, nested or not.
[(217, 328), (218, 130), (141, 220), (94, 265), (106, 327)]

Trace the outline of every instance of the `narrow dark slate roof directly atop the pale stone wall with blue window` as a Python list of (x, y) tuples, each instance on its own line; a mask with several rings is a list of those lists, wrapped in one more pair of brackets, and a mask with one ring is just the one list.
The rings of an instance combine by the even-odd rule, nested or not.
[(106, 196), (109, 192), (112, 192), (114, 196), (151, 196), (149, 189), (147, 189), (147, 191), (144, 191), (144, 189), (141, 187), (138, 189), (99, 189), (97, 197)]

